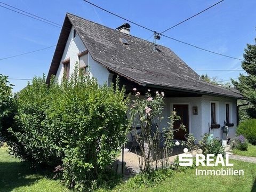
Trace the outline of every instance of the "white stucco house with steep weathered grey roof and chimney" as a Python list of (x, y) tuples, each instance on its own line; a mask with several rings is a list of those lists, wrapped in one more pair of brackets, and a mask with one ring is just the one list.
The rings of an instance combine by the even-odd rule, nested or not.
[[(237, 99), (242, 95), (202, 81), (168, 47), (130, 35), (127, 23), (111, 29), (67, 13), (47, 83), (52, 75), (59, 81), (63, 74), (68, 76), (76, 61), (84, 74), (97, 78), (100, 85), (115, 83), (119, 76), (127, 92), (132, 92), (134, 87), (142, 95), (148, 89), (152, 93), (163, 91), (163, 125), (167, 124), (167, 117), (175, 108), (187, 133), (193, 133), (196, 139), (201, 139), (204, 133), (226, 139), (222, 132), (225, 122), (230, 126), (229, 137), (235, 136)], [(174, 138), (183, 140), (185, 133), (180, 130)]]

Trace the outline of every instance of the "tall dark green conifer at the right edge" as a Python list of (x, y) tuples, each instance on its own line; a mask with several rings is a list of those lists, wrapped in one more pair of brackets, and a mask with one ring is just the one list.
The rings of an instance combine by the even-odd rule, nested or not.
[(248, 108), (249, 116), (256, 118), (256, 38), (255, 44), (247, 44), (244, 51), (242, 68), (246, 75), (240, 74), (239, 81), (232, 81), (232, 83), (245, 99), (251, 102), (251, 107)]

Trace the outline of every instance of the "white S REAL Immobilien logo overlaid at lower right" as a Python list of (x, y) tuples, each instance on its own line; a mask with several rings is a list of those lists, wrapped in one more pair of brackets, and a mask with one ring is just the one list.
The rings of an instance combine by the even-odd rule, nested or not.
[[(187, 153), (188, 149), (185, 148), (183, 150), (185, 153)], [(214, 154), (207, 154), (206, 156), (203, 154), (196, 154), (195, 157), (193, 157), (192, 154), (180, 154), (179, 155), (179, 165), (180, 166), (192, 166), (193, 165), (193, 158), (196, 159), (196, 166), (218, 166), (222, 165), (223, 167), (226, 167), (223, 169), (214, 169), (214, 170), (208, 170), (208, 169), (197, 169), (196, 168), (196, 175), (244, 175), (244, 170), (234, 170), (231, 168), (234, 166), (233, 163), (229, 163), (229, 155), (226, 154), (226, 158), (223, 158), (221, 154), (218, 154), (215, 156)]]

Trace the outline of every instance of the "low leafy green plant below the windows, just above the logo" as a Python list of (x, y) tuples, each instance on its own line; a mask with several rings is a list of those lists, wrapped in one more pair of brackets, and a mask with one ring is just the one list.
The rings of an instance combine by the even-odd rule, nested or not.
[(210, 134), (205, 134), (203, 139), (199, 141), (199, 146), (202, 149), (203, 154), (225, 155), (221, 140), (218, 138), (209, 139), (209, 136)]

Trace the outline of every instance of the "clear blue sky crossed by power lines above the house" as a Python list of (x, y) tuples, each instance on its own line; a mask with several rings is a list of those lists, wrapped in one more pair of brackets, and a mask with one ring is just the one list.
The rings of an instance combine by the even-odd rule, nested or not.
[[(39, 15), (62, 25), (66, 12), (116, 28), (125, 21), (103, 12), (82, 0), (1, 0), (3, 3)], [(140, 25), (163, 31), (176, 23), (202, 11), (218, 1), (107, 1), (91, 2), (121, 15)], [(0, 4), (2, 5), (2, 4)], [(254, 44), (256, 37), (256, 1), (225, 0), (197, 17), (167, 31), (165, 35), (209, 49), (221, 54), (243, 59), (247, 43)], [(60, 28), (25, 17), (0, 7), (0, 73), (10, 78), (33, 78), (47, 74), (55, 47), (11, 59), (1, 58), (43, 49), (57, 44)], [(131, 24), (131, 34), (148, 39), (152, 33)], [(153, 41), (150, 38), (149, 41)], [(162, 37), (159, 44), (170, 47), (193, 69), (241, 69), (241, 61), (197, 50)], [(241, 71), (196, 71), (210, 77), (226, 80), (237, 78)], [(13, 91), (26, 86), (27, 81), (10, 80)]]

